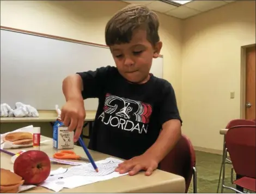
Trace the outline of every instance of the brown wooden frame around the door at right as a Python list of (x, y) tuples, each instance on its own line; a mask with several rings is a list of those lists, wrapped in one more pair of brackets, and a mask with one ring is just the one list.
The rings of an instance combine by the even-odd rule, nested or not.
[(241, 79), (240, 79), (240, 118), (245, 119), (246, 104), (246, 49), (255, 47), (254, 44), (248, 44), (241, 47)]

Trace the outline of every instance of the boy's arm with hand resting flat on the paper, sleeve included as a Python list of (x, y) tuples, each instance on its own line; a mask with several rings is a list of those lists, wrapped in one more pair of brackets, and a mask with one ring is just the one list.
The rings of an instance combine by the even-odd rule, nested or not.
[(160, 161), (172, 150), (181, 137), (181, 119), (176, 105), (175, 93), (170, 84), (167, 84), (160, 109), (159, 120), (162, 131), (155, 143), (141, 156), (134, 157), (121, 163), (116, 171), (130, 175), (140, 170), (146, 170), (150, 175)]

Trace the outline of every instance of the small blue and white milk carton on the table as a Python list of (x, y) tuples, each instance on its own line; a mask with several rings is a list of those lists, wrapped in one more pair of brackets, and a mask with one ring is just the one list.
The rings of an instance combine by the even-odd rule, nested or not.
[(53, 147), (57, 150), (74, 148), (74, 131), (68, 131), (62, 121), (57, 119), (53, 126)]

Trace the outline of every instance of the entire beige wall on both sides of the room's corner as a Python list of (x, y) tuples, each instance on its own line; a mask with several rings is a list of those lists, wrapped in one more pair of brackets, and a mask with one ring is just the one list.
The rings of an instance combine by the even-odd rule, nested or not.
[[(1, 25), (105, 44), (107, 20), (125, 5), (1, 1)], [(195, 146), (221, 150), (218, 129), (240, 117), (240, 47), (255, 43), (254, 8), (254, 2), (236, 2), (185, 21), (159, 14), (163, 77), (174, 86), (182, 130)], [(230, 90), (235, 99), (229, 99)], [(42, 127), (51, 134), (50, 126)], [(7, 125), (2, 124), (1, 132), (2, 128)]]

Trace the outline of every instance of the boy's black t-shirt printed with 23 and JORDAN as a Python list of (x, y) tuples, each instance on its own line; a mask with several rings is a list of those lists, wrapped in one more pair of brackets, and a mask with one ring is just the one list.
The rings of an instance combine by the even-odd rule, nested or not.
[(88, 146), (92, 150), (130, 159), (155, 143), (164, 122), (181, 121), (173, 87), (166, 80), (151, 74), (146, 83), (130, 83), (111, 66), (78, 74), (83, 99), (99, 99)]

